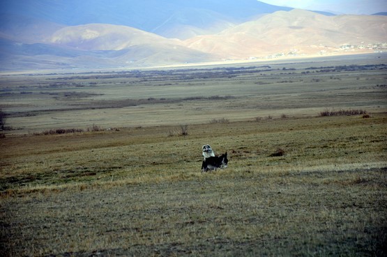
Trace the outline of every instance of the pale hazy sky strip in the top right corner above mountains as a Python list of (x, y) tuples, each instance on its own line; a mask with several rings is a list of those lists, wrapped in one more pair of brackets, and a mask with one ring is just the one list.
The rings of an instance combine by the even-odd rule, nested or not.
[(259, 0), (275, 6), (289, 6), (333, 13), (372, 14), (387, 12), (387, 0)]

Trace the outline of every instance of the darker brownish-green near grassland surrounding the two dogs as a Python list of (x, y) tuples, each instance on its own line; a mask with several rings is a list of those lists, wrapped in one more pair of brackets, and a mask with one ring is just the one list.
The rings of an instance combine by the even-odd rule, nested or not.
[[(6, 256), (386, 256), (386, 114), (1, 139)], [(211, 133), (204, 133), (211, 131)], [(214, 137), (216, 135), (216, 137)], [(201, 146), (229, 168), (201, 173)], [(282, 156), (273, 156), (281, 148)]]

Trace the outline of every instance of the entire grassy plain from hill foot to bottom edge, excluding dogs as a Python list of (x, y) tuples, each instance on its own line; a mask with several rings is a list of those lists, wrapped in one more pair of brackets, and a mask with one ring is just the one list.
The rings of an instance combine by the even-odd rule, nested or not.
[(1, 75), (0, 251), (386, 256), (385, 62)]

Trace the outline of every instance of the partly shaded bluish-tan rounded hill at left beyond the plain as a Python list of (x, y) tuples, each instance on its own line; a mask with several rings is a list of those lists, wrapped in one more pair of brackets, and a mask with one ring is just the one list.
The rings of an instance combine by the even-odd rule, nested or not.
[[(12, 38), (12, 37), (11, 37)], [(38, 42), (0, 37), (1, 70), (113, 68), (215, 61), (180, 40), (112, 24), (66, 26)]]

